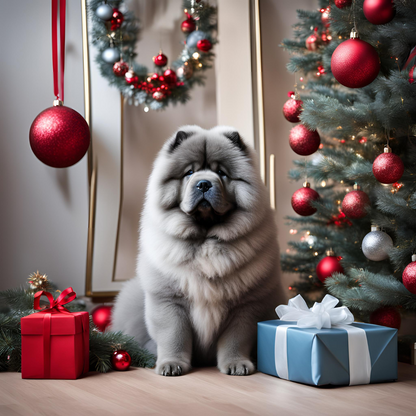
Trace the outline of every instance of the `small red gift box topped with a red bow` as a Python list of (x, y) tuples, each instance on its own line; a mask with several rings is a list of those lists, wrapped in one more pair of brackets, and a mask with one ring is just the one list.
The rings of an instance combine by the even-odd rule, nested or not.
[(41, 309), (40, 297), (50, 307), (20, 320), (22, 330), (22, 378), (76, 379), (89, 367), (89, 314), (69, 312), (63, 305), (75, 299), (71, 287), (58, 299), (37, 292), (34, 309)]

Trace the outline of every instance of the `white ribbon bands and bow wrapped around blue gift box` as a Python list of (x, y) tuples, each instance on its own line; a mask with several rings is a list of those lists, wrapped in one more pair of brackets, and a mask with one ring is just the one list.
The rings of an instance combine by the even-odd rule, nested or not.
[(279, 325), (276, 327), (275, 365), (280, 378), (288, 380), (287, 359), (287, 329), (297, 328), (340, 328), (348, 334), (348, 358), (350, 386), (369, 384), (371, 378), (371, 359), (368, 350), (367, 335), (361, 328), (351, 326), (354, 315), (346, 306), (336, 308), (339, 300), (326, 295), (322, 302), (315, 302), (308, 308), (301, 295), (289, 300), (287, 305), (279, 305), (276, 313), (282, 321), (296, 321), (294, 325)]

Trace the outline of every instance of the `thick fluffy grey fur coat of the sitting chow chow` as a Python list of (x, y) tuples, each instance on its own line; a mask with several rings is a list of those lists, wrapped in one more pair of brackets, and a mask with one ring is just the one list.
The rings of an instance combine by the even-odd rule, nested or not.
[[(275, 318), (281, 296), (267, 191), (254, 151), (230, 140), (235, 129), (180, 131), (186, 140), (172, 152), (175, 133), (154, 163), (137, 277), (117, 297), (113, 329), (157, 352), (161, 375), (215, 363), (226, 374), (251, 374), (257, 322)], [(203, 195), (200, 180), (212, 183)]]

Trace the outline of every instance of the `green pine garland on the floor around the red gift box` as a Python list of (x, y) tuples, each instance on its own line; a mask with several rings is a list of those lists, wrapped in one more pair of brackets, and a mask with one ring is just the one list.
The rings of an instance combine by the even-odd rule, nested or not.
[[(56, 286), (48, 282), (56, 297)], [(20, 318), (35, 313), (34, 293), (37, 290), (19, 287), (0, 292), (0, 371), (21, 371)], [(71, 312), (85, 310), (83, 301), (65, 305)], [(136, 341), (121, 332), (100, 332), (90, 316), (90, 370), (111, 371), (111, 356), (118, 349), (126, 350), (133, 367), (153, 367), (155, 356), (140, 348)]]

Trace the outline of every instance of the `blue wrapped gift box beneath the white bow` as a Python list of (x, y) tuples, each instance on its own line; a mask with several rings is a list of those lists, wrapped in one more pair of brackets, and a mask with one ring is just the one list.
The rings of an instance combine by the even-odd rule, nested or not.
[[(286, 351), (283, 352), (281, 348), (275, 348), (277, 329), (282, 325), (287, 326), (284, 341)], [(299, 383), (314, 386), (328, 384), (342, 386), (397, 380), (397, 329), (357, 322), (348, 327), (365, 331), (364, 342), (366, 338), (368, 364), (371, 361), (371, 374), (366, 382), (351, 382), (350, 372), (350, 354), (354, 351), (356, 354), (364, 354), (366, 348), (352, 346), (347, 330), (337, 327), (299, 328), (294, 326), (294, 322), (289, 321), (259, 322), (257, 368), (262, 373), (279, 377), (276, 367), (281, 367), (277, 364), (277, 359), (281, 361), (281, 355), (284, 354), (287, 374), (286, 377), (281, 378)], [(358, 362), (360, 360), (361, 357), (358, 357)]]

